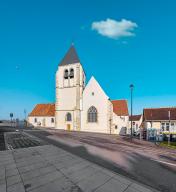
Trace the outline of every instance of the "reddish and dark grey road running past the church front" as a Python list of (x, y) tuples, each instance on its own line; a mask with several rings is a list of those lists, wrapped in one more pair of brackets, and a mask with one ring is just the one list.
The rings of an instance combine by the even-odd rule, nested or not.
[(176, 151), (115, 135), (28, 131), (50, 144), (162, 192), (176, 192)]

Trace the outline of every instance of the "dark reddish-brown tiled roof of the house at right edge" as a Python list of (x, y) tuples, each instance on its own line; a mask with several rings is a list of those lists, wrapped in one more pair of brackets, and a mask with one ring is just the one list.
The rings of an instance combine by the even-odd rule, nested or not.
[(144, 120), (176, 120), (176, 107), (144, 109)]

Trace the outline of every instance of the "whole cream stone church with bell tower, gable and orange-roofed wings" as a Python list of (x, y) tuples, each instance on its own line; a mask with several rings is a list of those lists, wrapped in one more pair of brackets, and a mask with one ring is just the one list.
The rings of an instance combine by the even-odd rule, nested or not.
[(37, 104), (28, 116), (34, 127), (99, 132), (128, 133), (127, 100), (110, 100), (94, 77), (86, 84), (86, 74), (74, 45), (56, 71), (56, 101)]

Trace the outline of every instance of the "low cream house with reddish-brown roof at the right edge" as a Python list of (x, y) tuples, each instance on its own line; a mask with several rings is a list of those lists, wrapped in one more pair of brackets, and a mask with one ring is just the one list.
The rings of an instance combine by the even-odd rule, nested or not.
[(176, 138), (176, 107), (148, 108), (143, 110), (143, 127), (147, 140)]

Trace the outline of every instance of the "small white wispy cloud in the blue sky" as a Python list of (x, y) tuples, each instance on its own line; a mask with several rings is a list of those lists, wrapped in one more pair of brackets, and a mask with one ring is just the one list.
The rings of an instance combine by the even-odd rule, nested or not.
[(137, 27), (138, 25), (135, 22), (126, 19), (116, 21), (108, 18), (105, 21), (92, 23), (92, 30), (112, 39), (135, 36), (134, 30)]

